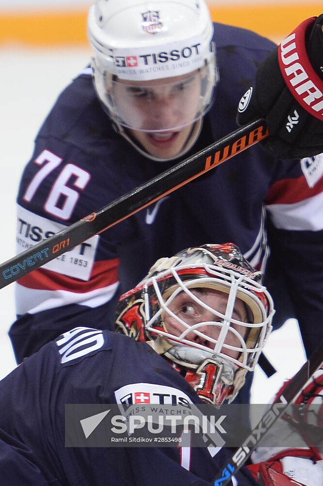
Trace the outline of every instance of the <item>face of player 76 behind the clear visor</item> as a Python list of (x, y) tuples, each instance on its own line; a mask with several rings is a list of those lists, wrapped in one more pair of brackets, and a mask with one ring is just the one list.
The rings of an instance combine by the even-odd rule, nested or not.
[(122, 124), (152, 156), (171, 158), (183, 148), (199, 114), (201, 75), (113, 84)]

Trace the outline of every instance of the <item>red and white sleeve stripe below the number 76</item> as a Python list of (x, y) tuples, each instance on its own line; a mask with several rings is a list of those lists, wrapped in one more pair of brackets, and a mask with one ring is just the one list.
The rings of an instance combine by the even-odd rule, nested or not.
[(91, 279), (82, 281), (44, 268), (20, 278), (16, 284), (16, 312), (31, 314), (68, 304), (98, 307), (118, 287), (119, 259), (96, 261)]

